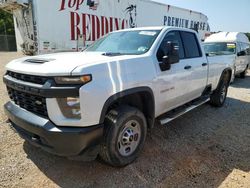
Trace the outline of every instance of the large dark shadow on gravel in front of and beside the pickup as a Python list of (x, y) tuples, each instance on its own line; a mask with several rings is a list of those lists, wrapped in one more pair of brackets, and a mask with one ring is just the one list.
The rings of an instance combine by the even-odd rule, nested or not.
[(249, 112), (250, 103), (228, 98), (222, 108), (203, 105), (166, 126), (156, 125), (140, 157), (124, 168), (69, 161), (26, 142), (24, 150), (65, 188), (218, 187), (234, 170), (250, 171)]

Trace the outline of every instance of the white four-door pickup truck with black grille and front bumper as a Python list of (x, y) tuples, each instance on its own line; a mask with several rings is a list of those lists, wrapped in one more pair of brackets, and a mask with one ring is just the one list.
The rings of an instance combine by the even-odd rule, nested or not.
[(124, 166), (147, 131), (210, 101), (220, 107), (232, 75), (208, 62), (195, 31), (174, 27), (112, 32), (83, 52), (14, 60), (5, 112), (17, 132), (71, 159)]

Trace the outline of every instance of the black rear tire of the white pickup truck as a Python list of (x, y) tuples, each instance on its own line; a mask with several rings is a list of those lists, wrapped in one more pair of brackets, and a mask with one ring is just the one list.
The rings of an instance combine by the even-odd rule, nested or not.
[(215, 107), (222, 107), (227, 98), (228, 86), (230, 83), (229, 72), (224, 73), (217, 89), (210, 96), (210, 104)]

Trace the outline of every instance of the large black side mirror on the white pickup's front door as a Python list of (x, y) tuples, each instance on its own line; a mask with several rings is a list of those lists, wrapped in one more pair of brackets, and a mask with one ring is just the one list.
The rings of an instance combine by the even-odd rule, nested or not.
[(180, 61), (178, 44), (167, 42), (166, 49), (167, 52), (162, 58), (162, 63), (160, 63), (161, 71), (170, 70), (171, 64), (178, 63)]

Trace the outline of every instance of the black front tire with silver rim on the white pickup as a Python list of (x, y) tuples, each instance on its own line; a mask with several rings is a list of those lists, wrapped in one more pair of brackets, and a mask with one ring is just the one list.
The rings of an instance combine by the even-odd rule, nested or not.
[(137, 108), (121, 106), (105, 117), (101, 159), (116, 167), (132, 163), (141, 152), (147, 134), (147, 123)]

